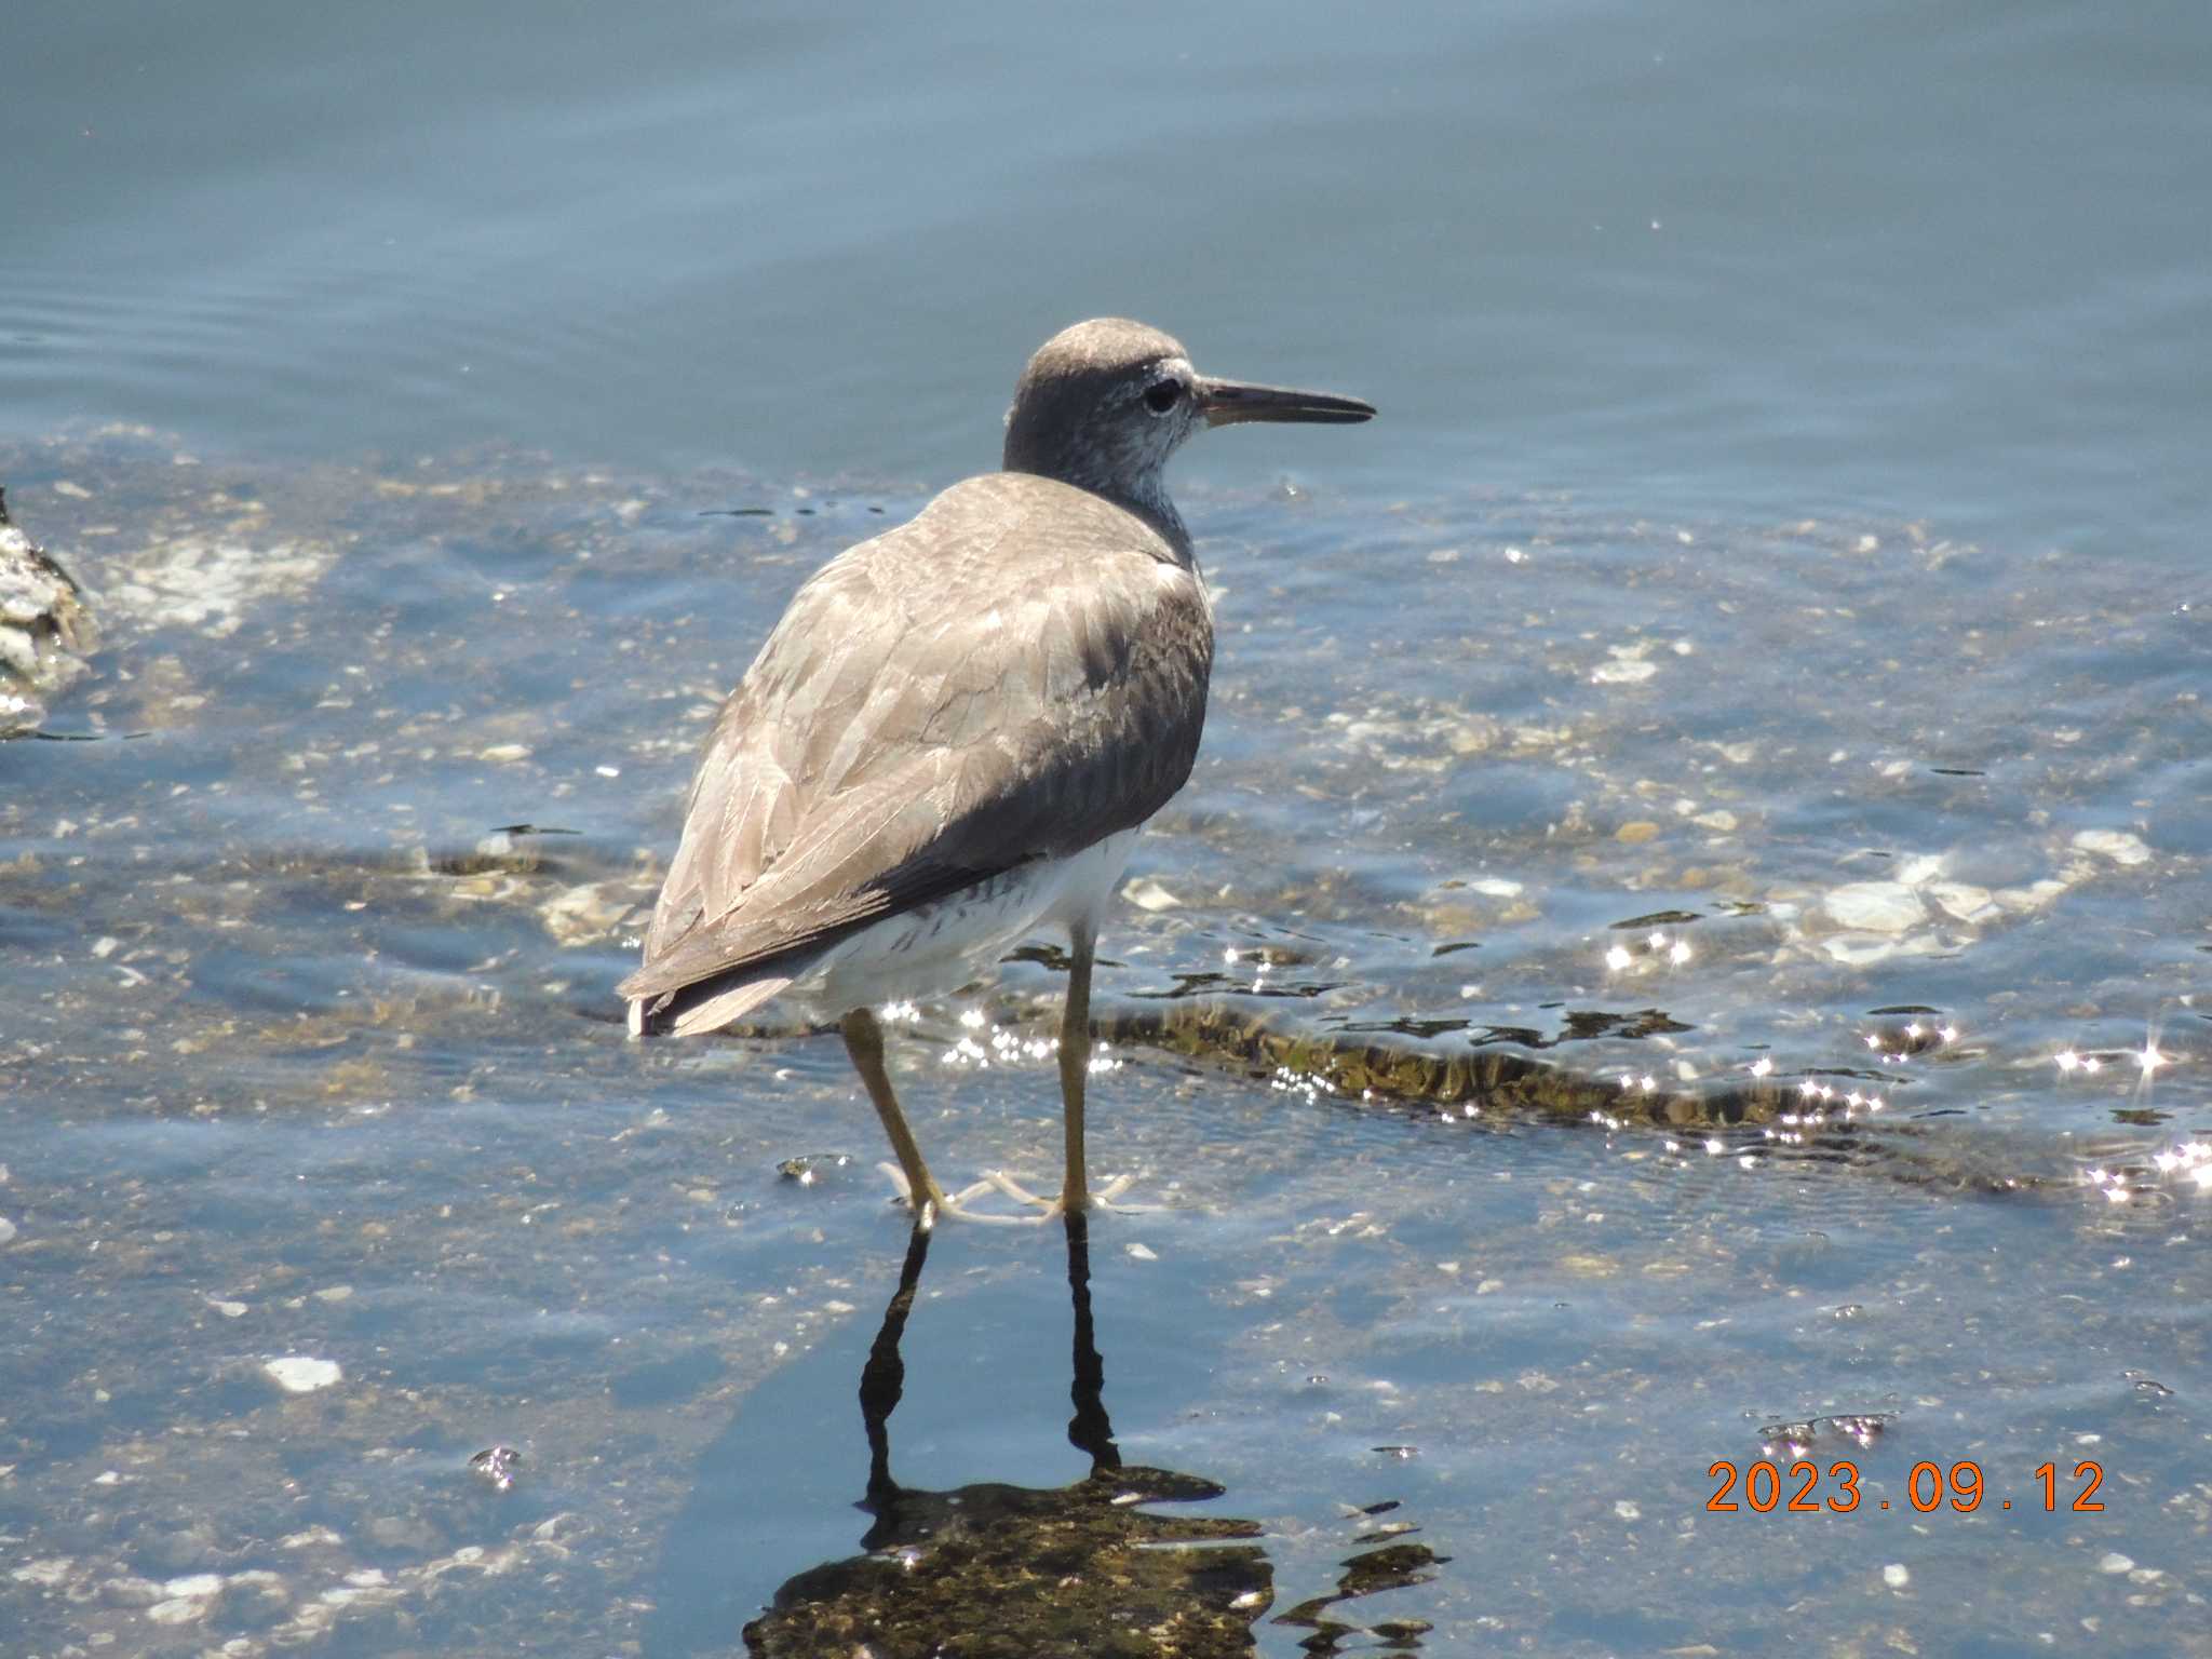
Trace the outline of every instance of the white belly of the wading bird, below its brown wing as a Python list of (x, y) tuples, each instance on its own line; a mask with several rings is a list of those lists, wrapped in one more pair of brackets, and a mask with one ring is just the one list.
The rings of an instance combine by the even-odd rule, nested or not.
[(781, 1000), (836, 1018), (956, 991), (1040, 931), (1097, 927), (1135, 841), (1135, 830), (1121, 830), (1073, 858), (1022, 865), (880, 920), (832, 947)]

